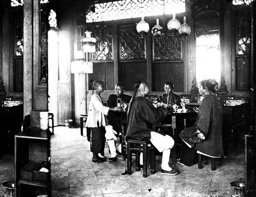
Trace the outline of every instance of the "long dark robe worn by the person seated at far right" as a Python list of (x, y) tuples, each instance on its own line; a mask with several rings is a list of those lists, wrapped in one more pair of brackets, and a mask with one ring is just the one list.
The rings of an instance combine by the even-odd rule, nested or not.
[[(202, 143), (196, 143), (196, 150), (212, 157), (224, 156), (222, 146), (222, 106), (215, 95), (206, 95), (204, 97), (199, 108), (196, 125), (194, 126), (205, 136), (205, 140), (202, 140)], [(180, 137), (191, 147), (194, 147), (194, 143), (190, 142), (186, 131), (190, 130), (183, 130), (180, 133)]]

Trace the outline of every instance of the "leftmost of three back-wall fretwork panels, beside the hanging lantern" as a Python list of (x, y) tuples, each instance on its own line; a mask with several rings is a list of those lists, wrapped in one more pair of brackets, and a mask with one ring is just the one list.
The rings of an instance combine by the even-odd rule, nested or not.
[(96, 52), (91, 54), (91, 60), (113, 60), (112, 57), (112, 30), (95, 30)]

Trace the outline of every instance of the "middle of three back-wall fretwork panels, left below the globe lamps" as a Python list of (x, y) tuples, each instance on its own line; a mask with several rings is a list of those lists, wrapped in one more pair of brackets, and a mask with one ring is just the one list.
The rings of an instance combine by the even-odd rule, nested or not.
[(119, 36), (120, 59), (139, 60), (145, 59), (144, 39), (138, 35), (137, 30), (123, 30)]

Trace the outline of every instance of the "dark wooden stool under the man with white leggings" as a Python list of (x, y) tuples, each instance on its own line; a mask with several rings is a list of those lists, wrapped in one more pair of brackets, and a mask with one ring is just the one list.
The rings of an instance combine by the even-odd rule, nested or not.
[(140, 153), (143, 153), (143, 177), (148, 176), (148, 156), (150, 159), (151, 174), (155, 173), (155, 153), (150, 141), (127, 140), (127, 168), (128, 174), (132, 175), (132, 153), (135, 153), (136, 171), (140, 171)]

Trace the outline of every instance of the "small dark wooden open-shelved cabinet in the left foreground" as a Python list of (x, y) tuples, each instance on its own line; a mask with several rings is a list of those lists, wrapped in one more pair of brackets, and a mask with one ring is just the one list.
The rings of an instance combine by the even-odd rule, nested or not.
[[(51, 196), (50, 132), (27, 128), (15, 136), (15, 196)], [(49, 171), (39, 171), (46, 168)]]

